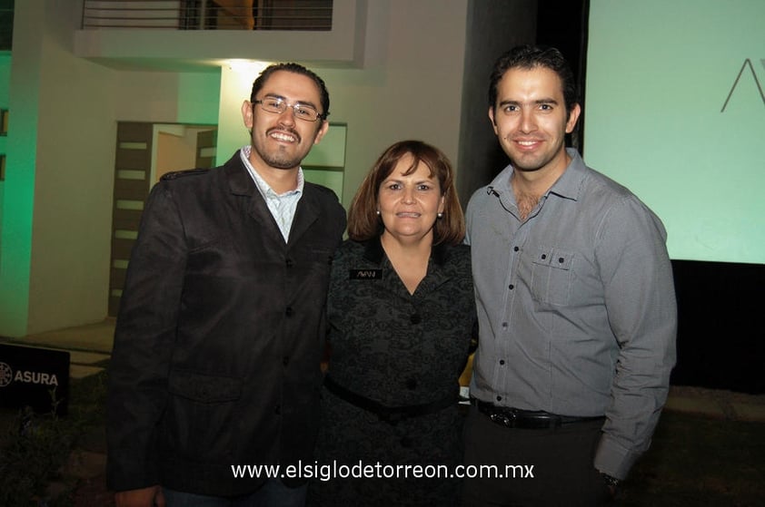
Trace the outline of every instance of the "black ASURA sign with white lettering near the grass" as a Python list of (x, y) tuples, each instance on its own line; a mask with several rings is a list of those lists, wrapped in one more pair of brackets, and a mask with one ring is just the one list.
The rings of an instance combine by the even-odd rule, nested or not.
[(69, 353), (0, 344), (0, 405), (65, 415), (69, 405)]

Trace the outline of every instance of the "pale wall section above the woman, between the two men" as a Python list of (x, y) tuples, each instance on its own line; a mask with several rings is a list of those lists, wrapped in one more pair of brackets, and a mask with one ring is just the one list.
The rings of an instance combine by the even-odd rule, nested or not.
[(466, 0), (370, 2), (363, 69), (319, 71), (330, 90), (330, 120), (348, 124), (346, 209), (395, 141), (430, 142), (456, 164), (466, 15)]

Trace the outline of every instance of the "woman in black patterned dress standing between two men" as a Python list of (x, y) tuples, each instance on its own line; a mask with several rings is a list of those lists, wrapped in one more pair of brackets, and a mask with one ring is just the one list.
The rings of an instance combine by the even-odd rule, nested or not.
[(348, 233), (327, 303), (317, 452), (324, 476), (311, 485), (311, 501), (456, 505), (459, 376), (475, 303), (462, 209), (442, 151), (422, 141), (384, 151), (353, 198)]

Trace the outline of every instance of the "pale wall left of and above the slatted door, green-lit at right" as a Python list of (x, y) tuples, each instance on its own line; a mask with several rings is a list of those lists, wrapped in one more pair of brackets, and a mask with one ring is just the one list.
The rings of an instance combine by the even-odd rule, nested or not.
[(26, 334), (106, 316), (116, 123), (217, 122), (219, 73), (114, 71), (75, 57), (76, 16), (58, 4), (45, 0), (41, 58), (27, 63), (41, 75)]

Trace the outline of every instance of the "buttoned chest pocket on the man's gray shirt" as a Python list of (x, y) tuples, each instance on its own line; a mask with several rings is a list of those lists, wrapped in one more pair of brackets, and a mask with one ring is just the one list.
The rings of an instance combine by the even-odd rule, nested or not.
[(569, 304), (574, 254), (541, 246), (532, 258), (532, 297), (549, 305)]

